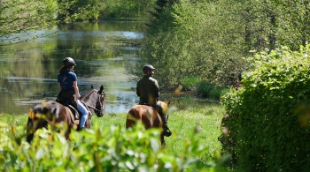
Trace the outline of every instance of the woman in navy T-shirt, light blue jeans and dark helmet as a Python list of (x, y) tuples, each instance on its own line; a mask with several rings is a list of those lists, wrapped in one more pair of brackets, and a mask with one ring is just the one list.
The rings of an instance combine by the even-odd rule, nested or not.
[(81, 112), (81, 120), (78, 130), (82, 130), (85, 128), (89, 111), (79, 100), (81, 95), (79, 92), (79, 87), (77, 86), (77, 76), (74, 73), (75, 65), (74, 59), (71, 57), (66, 57), (63, 60), (63, 64), (58, 73), (58, 87), (60, 92), (58, 93), (57, 101), (72, 102), (74, 104), (74, 108), (77, 108)]

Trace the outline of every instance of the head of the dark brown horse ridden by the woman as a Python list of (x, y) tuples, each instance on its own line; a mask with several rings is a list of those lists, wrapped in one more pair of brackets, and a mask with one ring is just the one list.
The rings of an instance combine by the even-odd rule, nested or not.
[(92, 91), (85, 95), (81, 101), (84, 101), (86, 106), (90, 108), (89, 111), (94, 112), (98, 117), (102, 117), (105, 110), (104, 86), (100, 86), (99, 90), (91, 86), (91, 89)]

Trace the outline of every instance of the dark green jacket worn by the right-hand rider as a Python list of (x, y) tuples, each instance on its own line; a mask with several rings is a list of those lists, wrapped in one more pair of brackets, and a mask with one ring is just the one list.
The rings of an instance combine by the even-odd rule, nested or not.
[(136, 95), (140, 97), (139, 103), (156, 104), (156, 98), (159, 98), (159, 84), (157, 80), (144, 75), (136, 83)]

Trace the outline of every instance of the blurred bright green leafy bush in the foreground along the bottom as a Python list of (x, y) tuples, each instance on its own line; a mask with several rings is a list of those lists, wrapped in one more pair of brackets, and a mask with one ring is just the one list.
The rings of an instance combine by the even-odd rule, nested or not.
[[(215, 163), (203, 163), (188, 154), (169, 155), (160, 148), (159, 130), (145, 131), (138, 123), (132, 130), (111, 126), (103, 130), (72, 131), (72, 141), (63, 128), (35, 132), (31, 145), (23, 126), (0, 123), (0, 171), (201, 171), (216, 170)], [(59, 131), (60, 132), (56, 132)], [(193, 136), (184, 144), (185, 153), (204, 151)], [(219, 169), (219, 168), (217, 168)]]

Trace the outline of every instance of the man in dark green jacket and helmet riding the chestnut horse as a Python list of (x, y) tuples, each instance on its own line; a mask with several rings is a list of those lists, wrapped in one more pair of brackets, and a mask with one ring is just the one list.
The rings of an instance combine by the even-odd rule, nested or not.
[(143, 66), (144, 76), (136, 83), (136, 95), (140, 98), (139, 104), (149, 105), (159, 112), (163, 122), (163, 133), (165, 136), (171, 136), (172, 132), (167, 126), (167, 114), (162, 112), (161, 107), (158, 105), (159, 101), (159, 84), (156, 79), (153, 79), (155, 68), (151, 64)]

